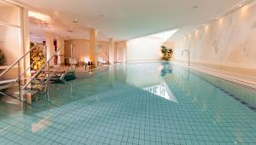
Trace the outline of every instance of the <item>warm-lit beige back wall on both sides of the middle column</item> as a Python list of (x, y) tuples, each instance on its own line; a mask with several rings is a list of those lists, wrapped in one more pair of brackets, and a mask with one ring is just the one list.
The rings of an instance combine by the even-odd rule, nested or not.
[[(74, 45), (74, 55), (79, 61), (90, 60), (90, 42), (83, 39), (72, 39), (65, 45), (65, 55), (71, 56), (70, 44)], [(108, 60), (108, 42), (97, 42), (98, 46), (98, 60)]]

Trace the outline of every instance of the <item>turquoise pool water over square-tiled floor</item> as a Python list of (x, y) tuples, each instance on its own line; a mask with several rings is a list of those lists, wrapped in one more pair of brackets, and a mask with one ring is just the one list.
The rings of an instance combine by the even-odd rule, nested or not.
[(27, 104), (2, 96), (0, 144), (256, 144), (256, 112), (188, 68), (139, 63), (78, 77)]

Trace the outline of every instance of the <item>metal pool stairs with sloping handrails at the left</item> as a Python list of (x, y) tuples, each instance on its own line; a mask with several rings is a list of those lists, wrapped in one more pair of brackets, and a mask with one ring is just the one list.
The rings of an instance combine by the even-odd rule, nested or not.
[[(58, 49), (55, 50), (55, 53), (51, 55), (49, 57), (49, 60), (46, 61), (44, 65), (38, 69), (37, 73), (31, 76), (30, 70), (33, 64), (30, 64), (25, 69), (23, 69), (21, 65), (25, 66), (26, 57), (29, 57), (32, 50), (38, 47), (39, 49), (43, 50), (46, 58), (46, 52), (47, 52), (46, 45), (36, 44), (30, 50), (28, 50), (24, 55), (20, 56), (20, 58), (17, 61), (15, 61), (13, 64), (7, 67), (0, 74), (0, 93), (1, 94), (6, 95), (6, 92), (3, 92), (3, 90), (8, 89), (9, 87), (15, 86), (13, 90), (9, 91), (8, 95), (15, 96), (20, 101), (25, 101), (26, 100), (25, 96), (27, 93), (30, 93), (31, 95), (36, 94), (38, 93), (38, 91), (44, 90), (44, 87), (46, 87), (50, 83), (50, 80), (51, 80), (50, 78), (52, 78), (55, 75), (55, 72), (61, 65), (55, 65), (53, 67), (54, 68), (53, 70), (49, 70), (50, 68), (49, 62), (55, 59), (55, 55), (57, 55), (57, 53), (61, 49), (64, 49), (64, 44), (62, 44)], [(73, 44), (71, 44), (71, 47), (73, 49)], [(15, 78), (5, 78), (5, 76), (8, 73), (14, 73), (15, 69), (17, 69), (17, 76)], [(43, 89), (41, 90), (38, 89), (38, 85), (41, 85), (41, 88)]]

